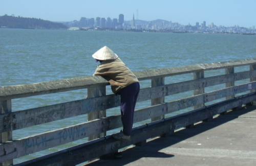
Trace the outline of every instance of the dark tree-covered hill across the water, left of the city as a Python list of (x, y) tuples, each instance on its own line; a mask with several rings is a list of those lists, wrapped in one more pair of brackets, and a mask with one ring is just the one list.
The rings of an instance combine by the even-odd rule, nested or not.
[(0, 28), (22, 28), (22, 29), (67, 29), (62, 23), (43, 20), (40, 18), (26, 18), (14, 16), (0, 16)]

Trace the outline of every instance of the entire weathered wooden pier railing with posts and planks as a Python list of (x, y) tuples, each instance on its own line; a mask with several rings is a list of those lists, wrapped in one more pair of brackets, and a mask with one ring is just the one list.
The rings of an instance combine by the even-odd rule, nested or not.
[[(239, 66), (250, 66), (250, 69), (234, 73), (234, 68)], [(216, 69), (225, 69), (226, 73), (224, 75), (204, 77), (204, 72), (206, 70)], [(165, 84), (164, 78), (166, 77), (189, 73), (194, 74), (194, 78), (189, 81)], [(134, 137), (132, 136), (132, 140), (125, 143), (112, 140), (110, 136), (104, 137), (106, 131), (119, 128), (122, 126), (122, 123), (121, 115), (106, 117), (105, 110), (119, 106), (120, 98), (119, 96), (115, 96), (115, 94), (106, 95), (106, 86), (109, 86), (109, 83), (101, 77), (83, 77), (28, 85), (0, 87), (0, 163), (2, 162), (3, 165), (11, 165), (14, 158), (86, 137), (89, 137), (89, 140), (95, 139), (84, 145), (69, 148), (68, 150), (61, 150), (56, 154), (46, 155), (38, 159), (20, 163), (20, 165), (36, 164), (36, 162), (44, 161), (44, 164), (78, 164), (101, 155), (113, 153), (119, 148), (127, 145), (142, 144), (147, 138), (152, 136), (172, 133), (176, 129), (189, 127), (194, 125), (194, 123), (208, 120), (215, 114), (223, 113), (228, 109), (256, 100), (254, 94), (254, 90), (256, 89), (256, 59), (144, 70), (143, 72), (135, 74), (140, 81), (151, 80), (151, 87), (140, 89), (138, 102), (151, 100), (152, 106), (136, 110), (134, 114), (134, 123), (148, 119), (151, 119), (154, 122), (152, 124), (147, 124), (146, 126), (141, 126), (138, 129), (136, 128), (134, 133), (138, 132), (138, 135)], [(250, 79), (250, 81), (248, 83), (234, 85), (235, 81), (244, 79)], [(226, 84), (226, 87), (215, 91), (205, 92), (205, 87), (218, 84)], [(77, 89), (88, 89), (88, 98), (12, 112), (12, 99)], [(164, 101), (166, 96), (190, 90), (194, 90), (194, 96), (171, 102)], [(235, 97), (236, 94), (242, 92), (247, 93), (243, 94), (243, 96)], [(221, 98), (226, 98), (226, 103), (220, 102), (219, 105), (217, 103), (217, 105), (205, 106), (205, 103)], [(172, 117), (172, 120), (167, 120), (167, 118), (164, 117), (167, 113), (189, 107), (194, 107), (194, 110), (191, 111), (193, 114), (189, 114), (189, 117), (187, 116), (188, 114)], [(198, 111), (195, 112), (195, 110), (203, 110), (203, 112), (196, 114)], [(81, 114), (88, 114), (88, 121), (85, 120), (83, 123), (77, 125), (59, 128), (57, 130), (31, 135), (25, 138), (12, 139), (13, 130), (53, 122)], [(161, 126), (158, 122), (165, 123)], [(144, 133), (139, 132), (146, 130), (148, 131)], [(82, 152), (80, 151), (79, 154), (83, 155), (79, 156), (79, 148), (84, 147), (87, 148), (83, 149)], [(72, 155), (75, 155), (73, 156), (75, 157), (73, 160)], [(61, 159), (63, 161), (57, 159), (54, 160), (54, 156), (55, 158), (57, 158), (56, 156), (64, 156), (64, 158)]]

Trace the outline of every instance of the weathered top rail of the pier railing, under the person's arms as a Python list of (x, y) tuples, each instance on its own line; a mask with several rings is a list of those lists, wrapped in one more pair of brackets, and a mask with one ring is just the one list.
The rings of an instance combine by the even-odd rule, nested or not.
[[(213, 70), (227, 67), (238, 67), (255, 64), (256, 59), (245, 59), (239, 61), (218, 62), (208, 64), (197, 64), (175, 68), (161, 68), (135, 72), (139, 80), (147, 80), (157, 77), (168, 77), (193, 73), (200, 70)], [(68, 90), (77, 90), (93, 86), (108, 85), (108, 82), (101, 77), (77, 77), (59, 81), (41, 82), (27, 85), (15, 85), (0, 87), (0, 101), (14, 98), (24, 98), (40, 94), (49, 94)]]

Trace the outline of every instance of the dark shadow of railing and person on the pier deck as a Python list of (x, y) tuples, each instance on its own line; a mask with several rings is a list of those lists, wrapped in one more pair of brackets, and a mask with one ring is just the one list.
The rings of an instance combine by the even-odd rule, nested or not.
[[(172, 162), (172, 158), (175, 158), (175, 154), (160, 152), (160, 150), (168, 148), (170, 146), (181, 143), (182, 141), (194, 137), (196, 135), (200, 136), (201, 133), (214, 129), (220, 125), (223, 125), (227, 122), (235, 120), (239, 116), (249, 113), (253, 110), (256, 110), (256, 106), (243, 107), (240, 110), (234, 110), (228, 112), (224, 115), (220, 115), (209, 122), (200, 123), (195, 125), (192, 128), (180, 130), (175, 132), (172, 136), (167, 137), (157, 137), (151, 141), (148, 141), (143, 146), (135, 146), (133, 148), (127, 149), (122, 152), (122, 158), (114, 158), (113, 156), (105, 159), (99, 159), (94, 162), (88, 163), (86, 165), (141, 165), (146, 164), (144, 160), (150, 160), (152, 165), (163, 165), (166, 163), (159, 163), (154, 161), (155, 158), (168, 158), (168, 162)], [(256, 118), (256, 117), (255, 117)], [(218, 130), (218, 129), (217, 129)], [(219, 130), (218, 132), (222, 132)], [(218, 141), (218, 140), (217, 140)], [(221, 140), (220, 140), (221, 141)], [(178, 146), (179, 147), (179, 146)], [(181, 147), (180, 147), (181, 148)], [(167, 163), (168, 164), (168, 163)]]

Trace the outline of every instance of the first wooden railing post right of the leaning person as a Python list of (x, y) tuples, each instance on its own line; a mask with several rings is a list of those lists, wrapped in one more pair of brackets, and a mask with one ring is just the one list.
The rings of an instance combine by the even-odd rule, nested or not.
[[(151, 79), (151, 87), (163, 86), (163, 85), (164, 85), (164, 77)], [(162, 93), (164, 93), (164, 89), (162, 89)], [(151, 100), (151, 105), (156, 105), (160, 103), (164, 103), (164, 97)], [(151, 121), (153, 122), (153, 121), (161, 120), (162, 118), (164, 118), (164, 115), (158, 116), (158, 117), (152, 117)]]

